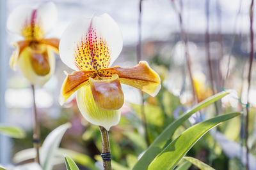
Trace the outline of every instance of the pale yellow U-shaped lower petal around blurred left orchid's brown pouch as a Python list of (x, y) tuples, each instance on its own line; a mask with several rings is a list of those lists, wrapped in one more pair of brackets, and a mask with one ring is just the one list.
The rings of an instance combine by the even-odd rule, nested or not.
[[(47, 47), (46, 47), (47, 48)], [(27, 47), (23, 50), (22, 53), (20, 53), (19, 57), (19, 67), (20, 71), (22, 71), (22, 74), (34, 85), (38, 85), (42, 87), (52, 76), (55, 69), (55, 59), (54, 54), (47, 48), (47, 56), (49, 58), (49, 66), (50, 71), (48, 74), (45, 74), (44, 76), (40, 76), (35, 73), (35, 70), (33, 69), (33, 66), (31, 65), (31, 55), (32, 55), (32, 49), (31, 47)]]

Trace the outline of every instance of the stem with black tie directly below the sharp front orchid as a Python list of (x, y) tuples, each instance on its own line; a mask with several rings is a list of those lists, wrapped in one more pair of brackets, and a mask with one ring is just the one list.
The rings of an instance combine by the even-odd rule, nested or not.
[(102, 127), (99, 126), (100, 132), (101, 132), (101, 137), (102, 137), (102, 154), (104, 153), (109, 153), (108, 159), (104, 159), (102, 155), (102, 160), (103, 160), (103, 167), (104, 170), (111, 170), (111, 157), (110, 157), (110, 146), (109, 146), (109, 138), (108, 138), (108, 131)]

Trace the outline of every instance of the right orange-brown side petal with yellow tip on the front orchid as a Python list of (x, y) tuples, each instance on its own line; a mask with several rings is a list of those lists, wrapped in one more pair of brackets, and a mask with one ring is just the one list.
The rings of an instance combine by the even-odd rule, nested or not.
[(161, 80), (158, 74), (148, 66), (146, 61), (141, 61), (135, 67), (110, 67), (100, 69), (98, 73), (99, 76), (118, 74), (121, 83), (136, 87), (151, 96), (156, 96), (161, 89)]

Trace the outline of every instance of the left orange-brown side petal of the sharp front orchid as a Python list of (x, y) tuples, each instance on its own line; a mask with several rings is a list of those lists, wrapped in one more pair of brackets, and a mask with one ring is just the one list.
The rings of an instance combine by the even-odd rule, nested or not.
[(76, 90), (86, 85), (89, 77), (95, 78), (96, 76), (96, 71), (74, 71), (68, 74), (61, 87), (60, 104), (63, 105)]

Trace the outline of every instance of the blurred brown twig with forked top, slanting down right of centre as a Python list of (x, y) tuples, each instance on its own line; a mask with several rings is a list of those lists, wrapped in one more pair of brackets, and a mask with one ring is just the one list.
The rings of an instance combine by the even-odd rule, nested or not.
[(178, 10), (175, 1), (171, 0), (173, 9), (176, 11), (178, 17), (179, 17), (179, 25), (180, 25), (180, 34), (182, 37), (182, 40), (184, 41), (185, 45), (185, 58), (186, 58), (186, 64), (188, 66), (188, 73), (189, 73), (189, 79), (191, 82), (191, 87), (192, 87), (192, 92), (193, 92), (193, 101), (194, 103), (197, 103), (197, 97), (196, 97), (196, 92), (195, 92), (195, 83), (193, 81), (193, 74), (191, 71), (191, 60), (190, 60), (190, 55), (189, 55), (189, 48), (188, 48), (188, 35), (186, 34), (184, 27), (183, 27), (183, 20), (182, 20), (182, 0), (180, 0), (180, 10)]

